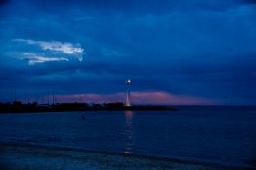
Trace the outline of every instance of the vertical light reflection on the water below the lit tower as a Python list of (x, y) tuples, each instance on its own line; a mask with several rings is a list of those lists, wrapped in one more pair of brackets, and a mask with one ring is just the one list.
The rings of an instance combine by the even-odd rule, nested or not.
[(133, 147), (133, 111), (125, 111), (125, 151), (126, 154), (132, 153)]

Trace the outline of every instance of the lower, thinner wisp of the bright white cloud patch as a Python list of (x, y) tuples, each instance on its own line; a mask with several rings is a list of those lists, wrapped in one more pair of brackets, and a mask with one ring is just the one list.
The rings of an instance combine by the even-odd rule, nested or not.
[(22, 59), (28, 60), (29, 65), (34, 65), (37, 63), (44, 63), (44, 62), (52, 62), (52, 61), (69, 61), (68, 58), (64, 57), (46, 57), (46, 56), (39, 56), (34, 53), (24, 53), (24, 57)]

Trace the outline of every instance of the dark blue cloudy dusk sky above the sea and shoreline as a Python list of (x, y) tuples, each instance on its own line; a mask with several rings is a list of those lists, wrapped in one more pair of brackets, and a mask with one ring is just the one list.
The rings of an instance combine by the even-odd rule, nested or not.
[(1, 101), (256, 105), (253, 0), (0, 0), (0, 45)]

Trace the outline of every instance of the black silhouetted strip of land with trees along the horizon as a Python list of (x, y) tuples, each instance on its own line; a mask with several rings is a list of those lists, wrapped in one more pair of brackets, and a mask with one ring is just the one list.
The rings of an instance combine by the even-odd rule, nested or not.
[(175, 110), (165, 106), (130, 106), (124, 103), (57, 103), (52, 105), (38, 104), (36, 102), (22, 104), (20, 101), (13, 103), (0, 103), (0, 113), (22, 113), (22, 112), (63, 112), (63, 111), (90, 111), (90, 110)]

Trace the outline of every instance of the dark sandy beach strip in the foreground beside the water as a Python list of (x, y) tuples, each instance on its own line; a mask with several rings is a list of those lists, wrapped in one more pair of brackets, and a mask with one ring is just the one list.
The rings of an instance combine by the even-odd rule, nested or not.
[(122, 153), (92, 152), (61, 147), (0, 144), (1, 170), (220, 170), (238, 169), (181, 160), (160, 159)]

